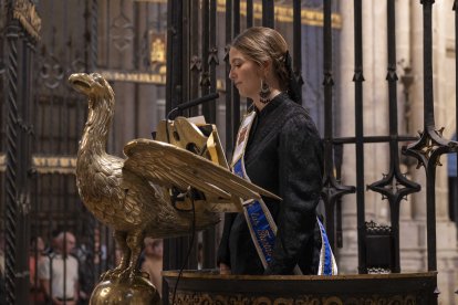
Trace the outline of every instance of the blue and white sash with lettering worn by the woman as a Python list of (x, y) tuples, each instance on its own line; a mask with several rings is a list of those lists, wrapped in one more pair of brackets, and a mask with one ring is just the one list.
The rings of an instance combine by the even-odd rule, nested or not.
[[(248, 143), (251, 124), (254, 120), (256, 113), (248, 114), (240, 125), (237, 135), (236, 149), (232, 157), (232, 171), (237, 176), (250, 181), (247, 171), (244, 170), (244, 149)], [(281, 204), (281, 203), (280, 203)], [(257, 249), (259, 259), (264, 269), (268, 267), (272, 260), (272, 251), (275, 244), (277, 224), (267, 208), (264, 201), (248, 200), (242, 202), (243, 214), (250, 230), (251, 239)], [(320, 227), (322, 246), (320, 251), (319, 275), (335, 275), (337, 274), (337, 264), (335, 263), (331, 245), (327, 240), (326, 232), (320, 219), (316, 218)], [(294, 267), (294, 274), (302, 274), (299, 266)]]

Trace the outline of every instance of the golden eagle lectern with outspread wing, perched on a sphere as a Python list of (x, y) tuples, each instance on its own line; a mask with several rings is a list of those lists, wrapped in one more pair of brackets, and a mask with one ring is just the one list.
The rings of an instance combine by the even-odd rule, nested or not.
[[(123, 253), (119, 265), (102, 275), (91, 304), (112, 304), (115, 299), (118, 304), (157, 301), (157, 292), (153, 288), (152, 293), (146, 287), (152, 284), (136, 267), (144, 238), (189, 234), (194, 214), (196, 230), (219, 221), (215, 204), (205, 200), (196, 204), (195, 213), (191, 209), (177, 209), (170, 190), (188, 198), (197, 190), (205, 198), (217, 198), (226, 204), (237, 202), (235, 198), (238, 202), (258, 199), (260, 193), (275, 197), (228, 169), (167, 143), (135, 139), (124, 147), (127, 159), (108, 155), (106, 143), (115, 104), (112, 87), (96, 73), (72, 74), (69, 82), (89, 99), (87, 120), (76, 160), (80, 197), (96, 219), (114, 230)], [(117, 286), (112, 290), (113, 295), (107, 296), (113, 283)], [(127, 292), (142, 283), (144, 290), (137, 298), (132, 291)], [(123, 287), (131, 298), (121, 295)]]

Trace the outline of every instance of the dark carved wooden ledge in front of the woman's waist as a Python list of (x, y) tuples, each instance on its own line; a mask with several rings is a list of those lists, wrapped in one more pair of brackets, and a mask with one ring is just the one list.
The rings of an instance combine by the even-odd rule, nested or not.
[[(163, 273), (170, 304), (178, 272)], [(175, 304), (436, 304), (437, 273), (219, 275), (185, 271)], [(168, 303), (167, 303), (168, 302)]]

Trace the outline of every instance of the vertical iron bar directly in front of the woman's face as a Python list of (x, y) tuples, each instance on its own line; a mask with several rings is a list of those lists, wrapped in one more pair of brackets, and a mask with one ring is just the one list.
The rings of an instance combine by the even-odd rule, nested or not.
[(229, 49), (232, 41), (232, 0), (226, 0), (226, 156), (230, 159), (232, 154), (232, 92), (233, 85), (229, 78), (230, 63)]

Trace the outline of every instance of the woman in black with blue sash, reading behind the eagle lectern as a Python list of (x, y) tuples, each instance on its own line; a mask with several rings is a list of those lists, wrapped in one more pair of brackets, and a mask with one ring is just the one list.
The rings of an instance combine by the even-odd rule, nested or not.
[(229, 77), (253, 101), (238, 133), (232, 169), (283, 200), (243, 202), (243, 213), (226, 215), (220, 273), (335, 274), (315, 213), (323, 147), (298, 101), (287, 42), (275, 30), (250, 28), (235, 39), (229, 61)]

